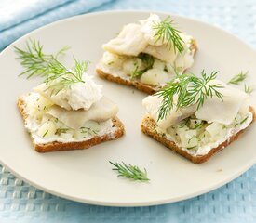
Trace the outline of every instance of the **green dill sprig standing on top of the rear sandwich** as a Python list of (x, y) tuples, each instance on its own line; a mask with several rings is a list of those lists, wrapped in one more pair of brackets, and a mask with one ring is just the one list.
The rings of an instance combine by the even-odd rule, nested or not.
[(170, 20), (169, 16), (165, 20), (155, 22), (153, 27), (155, 30), (155, 42), (161, 40), (162, 43), (165, 43), (165, 41), (167, 40), (167, 46), (169, 48), (173, 47), (174, 51), (178, 49), (178, 51), (182, 53), (182, 51), (184, 50), (184, 46), (182, 45), (182, 43), (184, 41), (180, 36), (181, 32), (174, 28), (173, 23), (174, 21)]

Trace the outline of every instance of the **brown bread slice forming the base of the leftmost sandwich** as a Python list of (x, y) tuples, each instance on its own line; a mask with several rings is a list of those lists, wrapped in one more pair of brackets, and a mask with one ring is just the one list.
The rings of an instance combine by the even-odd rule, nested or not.
[[(18, 99), (18, 108), (20, 109), (20, 113), (22, 118), (25, 120), (28, 117), (28, 114), (25, 112), (25, 102), (22, 97)], [(32, 138), (34, 143), (34, 149), (38, 152), (48, 152), (48, 151), (73, 151), (78, 149), (88, 149), (94, 145), (100, 144), (104, 141), (114, 140), (116, 138), (120, 138), (124, 135), (125, 128), (122, 122), (117, 118), (112, 119), (113, 123), (113, 132), (106, 133), (101, 136), (94, 136), (88, 140), (84, 141), (72, 141), (72, 142), (59, 142), (52, 141), (48, 143), (40, 143), (37, 144), (34, 142), (34, 138)]]

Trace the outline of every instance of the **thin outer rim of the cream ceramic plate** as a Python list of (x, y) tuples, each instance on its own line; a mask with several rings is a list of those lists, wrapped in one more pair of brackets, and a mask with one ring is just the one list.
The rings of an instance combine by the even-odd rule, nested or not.
[[(192, 21), (195, 21), (197, 23), (201, 23), (203, 25), (207, 25), (209, 26), (210, 28), (213, 28), (213, 29), (216, 29), (216, 30), (219, 30), (221, 31), (222, 33), (225, 33), (225, 34), (228, 34), (230, 37), (232, 38), (235, 38), (238, 42), (240, 42), (241, 44), (243, 44), (244, 46), (247, 46), (250, 50), (252, 50), (253, 52), (255, 52), (255, 55), (256, 55), (256, 50), (250, 46), (247, 42), (244, 42), (242, 39), (240, 39), (239, 37), (237, 37), (234, 33), (230, 33), (224, 29), (222, 29), (221, 27), (219, 26), (216, 26), (214, 24), (211, 24), (211, 23), (208, 23), (208, 22), (205, 22), (205, 21), (202, 21), (202, 20), (198, 20), (198, 19), (195, 19), (195, 18), (190, 18), (190, 17), (186, 17), (186, 16), (182, 16), (182, 15), (178, 15), (178, 14), (173, 14), (173, 13), (168, 13), (166, 11), (157, 11), (157, 10), (106, 10), (106, 11), (98, 11), (98, 12), (89, 12), (89, 13), (86, 13), (86, 14), (82, 14), (82, 15), (76, 15), (76, 16), (73, 16), (73, 17), (69, 17), (69, 18), (66, 18), (66, 19), (62, 19), (62, 20), (56, 20), (56, 21), (53, 21), (53, 22), (50, 22), (50, 23), (47, 23), (46, 25), (44, 26), (41, 26), (37, 29), (34, 29), (33, 31), (29, 32), (29, 33), (26, 33), (22, 36), (20, 36), (20, 38), (18, 38), (17, 40), (15, 40), (14, 42), (12, 42), (10, 45), (8, 45), (7, 47), (4, 48), (4, 50), (1, 51), (0, 53), (0, 57), (2, 57), (3, 54), (5, 54), (5, 52), (10, 48), (12, 47), (13, 45), (15, 45), (16, 43), (22, 41), (23, 38), (27, 38), (29, 37), (32, 33), (37, 33), (37, 32), (40, 32), (44, 29), (47, 29), (48, 27), (50, 26), (55, 26), (55, 25), (58, 25), (59, 23), (64, 23), (66, 21), (69, 21), (69, 20), (79, 20), (80, 18), (87, 18), (87, 17), (97, 17), (98, 15), (103, 15), (103, 14), (123, 14), (123, 13), (127, 13), (127, 14), (132, 14), (132, 13), (136, 13), (136, 14), (141, 14), (141, 13), (147, 13), (147, 14), (150, 14), (150, 13), (156, 13), (156, 14), (160, 14), (160, 15), (170, 15), (172, 17), (176, 17), (176, 18), (181, 18), (183, 20), (192, 20)], [(104, 206), (119, 206), (119, 207), (128, 207), (128, 206), (150, 206), (150, 205), (157, 205), (157, 204), (164, 204), (164, 203), (175, 203), (175, 202), (179, 202), (179, 201), (184, 201), (184, 200), (188, 200), (190, 198), (193, 198), (195, 196), (198, 196), (198, 195), (201, 195), (201, 194), (204, 194), (204, 193), (207, 193), (209, 191), (212, 191), (212, 190), (216, 190), (220, 187), (222, 187), (223, 185), (227, 184), (228, 182), (231, 182), (232, 180), (234, 180), (236, 177), (239, 177), (240, 175), (242, 175), (243, 173), (245, 173), (247, 170), (249, 170), (249, 168), (251, 166), (253, 166), (254, 164), (256, 164), (256, 157), (254, 159), (254, 161), (252, 160), (249, 164), (245, 165), (244, 168), (240, 169), (239, 171), (236, 171), (235, 174), (233, 174), (231, 177), (226, 177), (225, 180), (220, 180), (218, 181), (216, 184), (212, 185), (211, 187), (208, 187), (206, 188), (205, 190), (198, 190), (198, 191), (195, 191), (194, 193), (191, 193), (189, 195), (182, 195), (180, 197), (175, 197), (175, 198), (168, 198), (168, 199), (161, 199), (161, 200), (157, 200), (157, 201), (151, 201), (151, 202), (141, 202), (141, 203), (128, 203), (128, 202), (125, 202), (125, 203), (122, 203), (122, 202), (119, 202), (119, 203), (116, 203), (116, 202), (102, 202), (102, 201), (98, 201), (98, 200), (90, 200), (90, 199), (85, 199), (85, 198), (79, 198), (79, 197), (76, 197), (76, 196), (71, 196), (71, 195), (67, 195), (67, 194), (63, 194), (63, 193), (60, 193), (58, 192), (58, 190), (50, 190), (50, 189), (47, 189), (43, 186), (40, 186), (40, 184), (37, 184), (36, 182), (34, 182), (33, 180), (30, 180), (30, 179), (27, 179), (26, 177), (23, 177), (22, 175), (19, 174), (19, 172), (15, 171), (15, 169), (11, 168), (11, 166), (9, 166), (8, 164), (6, 164), (1, 156), (0, 156), (0, 164), (2, 164), (3, 166), (6, 166), (7, 169), (12, 173), (14, 174), (16, 177), (19, 177), (20, 179), (22, 179), (23, 181), (29, 183), (31, 186), (34, 186), (36, 189), (39, 189), (39, 190), (43, 190), (43, 191), (46, 191), (48, 193), (51, 193), (55, 196), (59, 196), (61, 198), (64, 198), (64, 199), (69, 199), (69, 200), (72, 200), (72, 201), (75, 201), (75, 202), (79, 202), (79, 203), (89, 203), (89, 204), (96, 204), (96, 205), (104, 205)]]

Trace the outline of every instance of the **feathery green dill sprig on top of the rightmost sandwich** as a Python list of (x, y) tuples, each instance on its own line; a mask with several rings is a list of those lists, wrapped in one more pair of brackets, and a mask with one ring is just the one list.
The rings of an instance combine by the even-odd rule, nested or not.
[[(193, 104), (197, 105), (197, 110), (204, 104), (206, 98), (216, 96), (222, 99), (222, 93), (218, 91), (223, 86), (220, 84), (210, 84), (209, 82), (216, 79), (218, 72), (201, 72), (201, 77), (193, 73), (184, 73), (177, 75), (161, 90), (155, 93), (156, 96), (163, 99), (159, 108), (157, 120), (164, 119), (174, 105), (176, 109), (187, 107)], [(177, 97), (177, 102), (174, 98)]]

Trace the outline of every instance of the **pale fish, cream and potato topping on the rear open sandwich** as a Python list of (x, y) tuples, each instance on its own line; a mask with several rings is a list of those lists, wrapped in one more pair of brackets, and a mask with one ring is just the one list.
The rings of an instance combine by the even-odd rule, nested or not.
[[(98, 64), (98, 68), (114, 76), (130, 80), (136, 76), (141, 83), (147, 85), (166, 85), (175, 72), (184, 72), (194, 63), (195, 49), (191, 46), (195, 41), (190, 35), (181, 33), (183, 51), (180, 53), (174, 47), (167, 45), (167, 39), (155, 37), (155, 24), (161, 19), (151, 14), (140, 24), (130, 23), (108, 43), (103, 45), (106, 52)], [(142, 54), (152, 57), (141, 58)], [(143, 57), (143, 55), (142, 55)]]

